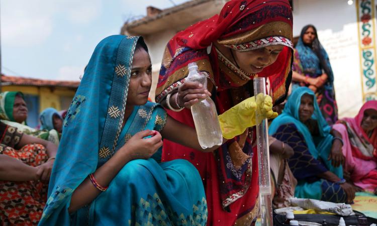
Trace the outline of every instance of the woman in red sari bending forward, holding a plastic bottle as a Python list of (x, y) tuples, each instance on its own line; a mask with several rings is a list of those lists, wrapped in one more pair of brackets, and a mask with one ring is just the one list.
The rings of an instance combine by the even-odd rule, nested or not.
[[(258, 76), (268, 77), (269, 95), (279, 103), (285, 99), (292, 77), (291, 40), (288, 1), (230, 1), (219, 15), (198, 22), (169, 41), (156, 101), (171, 117), (194, 127), (191, 105), (211, 95), (221, 114), (254, 95), (252, 79)], [(191, 62), (208, 74), (207, 87), (184, 82)], [(259, 192), (255, 143), (254, 128), (214, 153), (164, 141), (163, 161), (186, 159), (199, 170), (206, 190), (207, 225), (250, 225), (254, 221)]]

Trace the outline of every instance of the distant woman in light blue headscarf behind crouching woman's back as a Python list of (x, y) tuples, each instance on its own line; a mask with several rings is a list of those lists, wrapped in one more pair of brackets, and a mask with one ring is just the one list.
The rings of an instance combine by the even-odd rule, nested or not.
[(39, 115), (39, 120), (41, 121), (41, 130), (56, 130), (61, 133), (63, 129), (63, 118), (55, 108), (44, 109)]

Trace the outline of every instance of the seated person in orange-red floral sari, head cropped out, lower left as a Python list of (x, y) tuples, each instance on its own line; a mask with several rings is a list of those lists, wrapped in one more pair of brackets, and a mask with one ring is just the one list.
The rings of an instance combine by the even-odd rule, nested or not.
[(0, 222), (37, 225), (57, 147), (0, 122)]

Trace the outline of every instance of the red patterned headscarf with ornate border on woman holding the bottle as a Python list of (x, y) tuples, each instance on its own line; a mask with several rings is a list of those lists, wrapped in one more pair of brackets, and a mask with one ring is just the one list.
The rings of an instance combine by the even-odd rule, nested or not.
[[(284, 100), (292, 77), (292, 10), (286, 0), (233, 0), (221, 13), (177, 33), (167, 44), (156, 89), (156, 101), (185, 81), (187, 65), (197, 62), (199, 70), (209, 74), (208, 88), (217, 91), (236, 88), (253, 77), (269, 77), (274, 102)], [(284, 45), (277, 60), (262, 72), (239, 77), (226, 69), (216, 48), (221, 45), (236, 51), (248, 51), (271, 45)], [(221, 58), (221, 55), (220, 55)], [(234, 70), (240, 70), (235, 65)], [(229, 67), (228, 67), (229, 68)], [(252, 93), (252, 92), (251, 92)]]

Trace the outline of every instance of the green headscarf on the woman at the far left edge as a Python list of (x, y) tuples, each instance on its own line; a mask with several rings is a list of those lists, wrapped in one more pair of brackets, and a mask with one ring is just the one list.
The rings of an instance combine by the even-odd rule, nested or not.
[[(16, 96), (21, 96), (24, 99), (24, 94), (18, 91), (7, 91), (0, 93), (0, 119), (11, 122), (16, 122), (13, 118), (13, 105), (15, 104)], [(22, 124), (26, 124), (23, 122)]]

